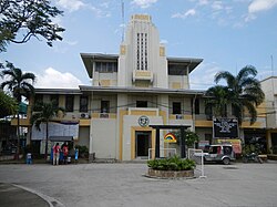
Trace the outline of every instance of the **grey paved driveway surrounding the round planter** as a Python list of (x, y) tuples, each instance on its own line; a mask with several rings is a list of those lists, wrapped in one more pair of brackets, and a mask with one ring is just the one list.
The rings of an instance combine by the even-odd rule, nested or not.
[(206, 165), (207, 178), (151, 179), (145, 164), (1, 165), (14, 183), (69, 207), (277, 206), (277, 163)]

